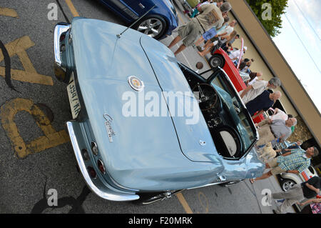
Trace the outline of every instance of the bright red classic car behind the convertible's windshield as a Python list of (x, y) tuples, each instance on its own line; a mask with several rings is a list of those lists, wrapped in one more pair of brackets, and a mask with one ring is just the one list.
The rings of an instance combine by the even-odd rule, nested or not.
[[(233, 61), (230, 60), (230, 57), (223, 49), (220, 48), (214, 51), (213, 55), (208, 60), (208, 63), (212, 68), (217, 68), (220, 66), (220, 68), (222, 68), (226, 74), (228, 74), (236, 90), (241, 91), (246, 88), (245, 82), (240, 76), (238, 69), (236, 69)], [(253, 122), (258, 123), (263, 119), (265, 119), (263, 114), (260, 114), (260, 116), (253, 119)]]

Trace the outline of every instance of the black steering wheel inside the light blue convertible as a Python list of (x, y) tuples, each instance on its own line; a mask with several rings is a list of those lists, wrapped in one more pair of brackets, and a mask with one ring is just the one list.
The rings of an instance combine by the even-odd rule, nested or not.
[(212, 109), (218, 102), (218, 92), (209, 84), (197, 84), (192, 91), (202, 111)]

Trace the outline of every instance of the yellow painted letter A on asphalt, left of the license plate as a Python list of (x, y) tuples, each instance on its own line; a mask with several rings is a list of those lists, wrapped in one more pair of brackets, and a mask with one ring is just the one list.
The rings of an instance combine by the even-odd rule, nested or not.
[[(54, 81), (51, 76), (38, 74), (26, 53), (26, 49), (29, 49), (34, 45), (34, 42), (31, 41), (29, 36), (22, 36), (21, 38), (4, 45), (6, 46), (9, 56), (14, 56), (16, 54), (19, 56), (22, 66), (24, 66), (24, 70), (11, 69), (11, 79), (53, 86)], [(0, 51), (0, 61), (3, 60), (4, 55)], [(5, 76), (4, 66), (0, 66), (0, 75), (3, 77)]]

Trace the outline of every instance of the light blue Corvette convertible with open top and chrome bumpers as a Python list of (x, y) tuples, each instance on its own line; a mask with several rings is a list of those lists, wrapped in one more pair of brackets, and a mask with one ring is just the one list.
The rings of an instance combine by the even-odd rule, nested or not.
[(183, 189), (260, 177), (245, 105), (222, 69), (208, 79), (156, 39), (76, 17), (54, 31), (55, 74), (78, 167), (103, 199), (150, 204)]

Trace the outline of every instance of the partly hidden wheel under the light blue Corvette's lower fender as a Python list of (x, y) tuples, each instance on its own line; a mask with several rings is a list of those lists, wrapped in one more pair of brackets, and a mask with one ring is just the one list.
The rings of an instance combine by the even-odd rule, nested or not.
[(161, 201), (163, 199), (169, 199), (170, 197), (173, 197), (173, 195), (178, 194), (179, 192), (182, 192), (183, 190), (175, 190), (175, 191), (169, 191), (169, 192), (156, 192), (156, 193), (142, 193), (139, 194), (139, 199), (133, 201), (133, 204), (136, 205), (149, 205), (156, 203), (158, 201)]

